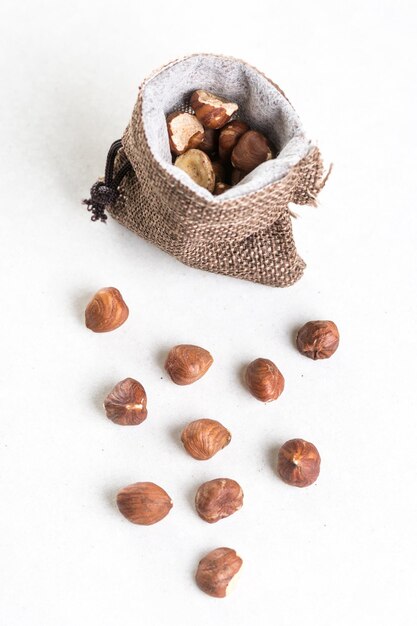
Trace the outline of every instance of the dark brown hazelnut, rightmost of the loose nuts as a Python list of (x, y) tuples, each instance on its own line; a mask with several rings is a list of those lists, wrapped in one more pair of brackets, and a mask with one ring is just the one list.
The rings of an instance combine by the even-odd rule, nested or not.
[(307, 322), (298, 331), (297, 348), (310, 359), (328, 359), (339, 346), (339, 331), (334, 322)]

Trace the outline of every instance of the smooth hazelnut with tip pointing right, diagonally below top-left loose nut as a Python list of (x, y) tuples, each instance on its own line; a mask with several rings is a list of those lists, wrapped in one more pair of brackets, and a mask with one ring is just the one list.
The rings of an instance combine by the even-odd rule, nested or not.
[(190, 385), (204, 376), (212, 363), (210, 352), (184, 344), (171, 348), (165, 369), (177, 385)]

